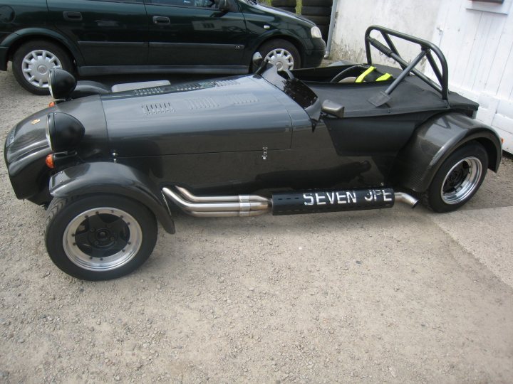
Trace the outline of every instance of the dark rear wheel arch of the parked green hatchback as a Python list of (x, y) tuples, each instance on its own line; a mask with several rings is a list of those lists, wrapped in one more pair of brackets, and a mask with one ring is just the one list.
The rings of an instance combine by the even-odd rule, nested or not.
[[(6, 38), (4, 38), (4, 40), (1, 42), (1, 47), (9, 49), (9, 54), (6, 54), (6, 60), (9, 58), (11, 48), (18, 46), (20, 41), (27, 41), (37, 38), (48, 38), (61, 43), (71, 52), (71, 55), (73, 55), (77, 65), (83, 65), (83, 58), (80, 50), (78, 50), (78, 48), (61, 33), (58, 33), (57, 31), (54, 31), (50, 28), (23, 28), (19, 31), (11, 33), (9, 36), (6, 36)], [(1, 65), (6, 65), (6, 62), (2, 62)]]

